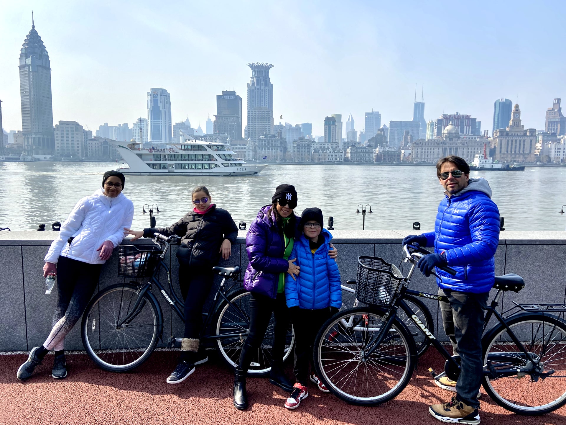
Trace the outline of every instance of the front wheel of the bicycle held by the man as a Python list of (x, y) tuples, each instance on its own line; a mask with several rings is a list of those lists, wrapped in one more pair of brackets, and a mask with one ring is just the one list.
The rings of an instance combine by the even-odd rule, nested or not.
[(382, 315), (366, 307), (344, 310), (329, 318), (316, 336), (316, 372), (335, 396), (348, 403), (375, 406), (391, 400), (413, 373), (415, 343), (397, 318), (381, 344), (363, 358), (374, 347)]

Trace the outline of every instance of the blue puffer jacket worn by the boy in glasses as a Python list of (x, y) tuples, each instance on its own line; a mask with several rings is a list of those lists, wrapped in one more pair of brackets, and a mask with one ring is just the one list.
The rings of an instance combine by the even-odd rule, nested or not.
[(314, 254), (305, 235), (295, 239), (289, 258), (297, 258), (295, 264), (301, 267), (301, 272), (296, 281), (289, 274), (285, 277), (287, 307), (298, 305), (300, 308), (318, 310), (342, 306), (340, 272), (336, 261), (328, 255), (332, 235), (326, 229), (321, 234), (324, 243)]

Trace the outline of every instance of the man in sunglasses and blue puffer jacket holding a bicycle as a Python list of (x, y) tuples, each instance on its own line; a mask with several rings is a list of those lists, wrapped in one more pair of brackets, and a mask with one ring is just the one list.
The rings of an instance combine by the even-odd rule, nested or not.
[(436, 214), (435, 231), (407, 236), (405, 244), (434, 247), (418, 267), (429, 276), (437, 266), (456, 270), (452, 276), (436, 268), (444, 330), (460, 355), (461, 373), (454, 382), (443, 376), (435, 384), (456, 392), (449, 403), (432, 405), (429, 412), (442, 422), (479, 423), (479, 388), (483, 376), (482, 333), (484, 308), (494, 285), (494, 254), (499, 244), (499, 210), (491, 200), (491, 188), (482, 177), (470, 179), (470, 167), (459, 156), (436, 163), (436, 175), (445, 198)]

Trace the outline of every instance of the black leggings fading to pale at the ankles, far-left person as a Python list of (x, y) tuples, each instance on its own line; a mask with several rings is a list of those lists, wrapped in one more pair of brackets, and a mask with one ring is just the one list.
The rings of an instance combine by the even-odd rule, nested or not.
[(82, 316), (98, 285), (101, 264), (59, 256), (57, 260), (57, 306), (53, 329), (43, 343), (48, 350), (63, 350), (65, 336)]

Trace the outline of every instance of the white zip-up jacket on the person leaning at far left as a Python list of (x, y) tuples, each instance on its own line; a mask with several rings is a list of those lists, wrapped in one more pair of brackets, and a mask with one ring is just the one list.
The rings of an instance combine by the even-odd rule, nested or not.
[[(124, 228), (130, 228), (134, 218), (134, 203), (120, 193), (115, 198), (104, 194), (102, 188), (75, 205), (57, 239), (53, 241), (45, 261), (57, 264), (59, 255), (89, 264), (104, 264), (97, 249), (106, 240), (114, 248), (124, 239)], [(74, 236), (69, 245), (67, 240)]]

